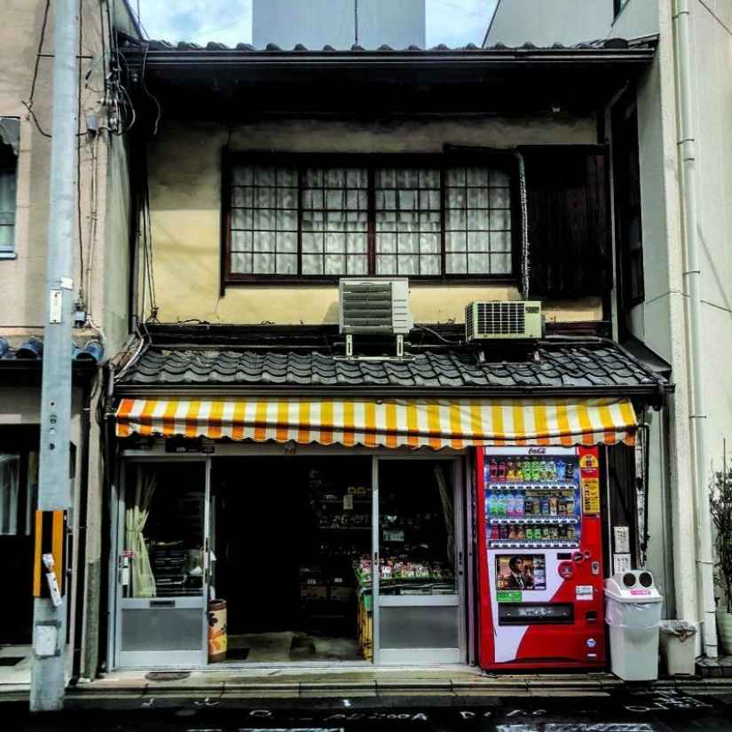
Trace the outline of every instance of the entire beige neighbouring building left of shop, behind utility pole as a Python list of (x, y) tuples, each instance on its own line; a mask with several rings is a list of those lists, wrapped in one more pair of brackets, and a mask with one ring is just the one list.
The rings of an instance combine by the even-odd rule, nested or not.
[[(131, 30), (122, 2), (80, 5), (79, 144), (75, 216), (77, 303), (67, 514), (68, 666), (97, 669), (103, 466), (96, 419), (98, 363), (130, 330), (129, 195), (121, 133), (130, 107), (114, 86), (119, 59), (109, 19)], [(100, 12), (100, 8), (102, 12)], [(0, 644), (29, 645), (33, 623), (34, 511), (37, 498), (43, 327), (51, 156), (53, 12), (47, 3), (9, 0), (0, 29), (0, 549), (4, 592)], [(106, 79), (108, 75), (108, 79)], [(114, 105), (113, 114), (103, 105)], [(87, 126), (87, 120), (90, 121)], [(72, 184), (70, 184), (72, 185)], [(66, 479), (67, 476), (59, 476)], [(106, 581), (106, 579), (105, 579)], [(88, 640), (91, 637), (92, 642)], [(90, 655), (91, 654), (91, 655)]]

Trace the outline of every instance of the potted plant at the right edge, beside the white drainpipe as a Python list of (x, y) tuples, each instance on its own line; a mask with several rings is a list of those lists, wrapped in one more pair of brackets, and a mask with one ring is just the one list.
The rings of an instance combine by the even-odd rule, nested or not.
[(732, 468), (716, 472), (709, 507), (714, 522), (714, 584), (717, 627), (725, 653), (732, 653)]

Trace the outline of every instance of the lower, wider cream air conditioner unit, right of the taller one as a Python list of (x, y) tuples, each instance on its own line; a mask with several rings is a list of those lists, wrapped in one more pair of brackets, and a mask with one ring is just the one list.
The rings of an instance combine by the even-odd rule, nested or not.
[(540, 338), (543, 331), (544, 321), (538, 301), (470, 303), (465, 309), (465, 337), (468, 341)]

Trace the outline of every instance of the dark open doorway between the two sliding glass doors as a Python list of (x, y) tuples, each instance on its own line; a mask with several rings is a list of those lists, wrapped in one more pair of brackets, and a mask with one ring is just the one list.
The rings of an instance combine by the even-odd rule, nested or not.
[(354, 566), (371, 554), (369, 457), (212, 461), (213, 591), (227, 660), (366, 660)]

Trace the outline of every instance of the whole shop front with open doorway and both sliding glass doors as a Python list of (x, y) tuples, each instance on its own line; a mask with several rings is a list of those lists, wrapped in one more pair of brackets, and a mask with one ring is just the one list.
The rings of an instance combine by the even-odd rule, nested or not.
[(374, 453), (129, 460), (114, 665), (206, 664), (214, 598), (227, 663), (463, 662), (457, 469)]

